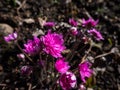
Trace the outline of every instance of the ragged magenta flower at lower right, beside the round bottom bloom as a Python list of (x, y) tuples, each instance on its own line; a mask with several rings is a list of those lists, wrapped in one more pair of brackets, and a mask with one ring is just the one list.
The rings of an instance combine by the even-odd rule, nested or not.
[(81, 64), (79, 64), (79, 72), (80, 72), (80, 76), (81, 76), (81, 80), (85, 83), (86, 80), (85, 78), (89, 78), (93, 71), (90, 69), (91, 64), (88, 61), (85, 61)]

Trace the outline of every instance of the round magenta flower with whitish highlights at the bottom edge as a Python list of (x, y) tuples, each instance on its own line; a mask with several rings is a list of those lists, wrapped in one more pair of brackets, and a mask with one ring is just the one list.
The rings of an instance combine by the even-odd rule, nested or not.
[(72, 72), (61, 74), (59, 83), (63, 90), (71, 90), (76, 85), (76, 76)]

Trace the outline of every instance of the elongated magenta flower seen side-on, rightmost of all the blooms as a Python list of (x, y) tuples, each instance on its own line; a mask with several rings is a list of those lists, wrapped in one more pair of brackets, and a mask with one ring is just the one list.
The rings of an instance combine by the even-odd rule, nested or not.
[(99, 31), (97, 31), (96, 29), (91, 29), (88, 31), (88, 33), (93, 35), (97, 41), (104, 40), (101, 33)]

